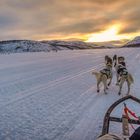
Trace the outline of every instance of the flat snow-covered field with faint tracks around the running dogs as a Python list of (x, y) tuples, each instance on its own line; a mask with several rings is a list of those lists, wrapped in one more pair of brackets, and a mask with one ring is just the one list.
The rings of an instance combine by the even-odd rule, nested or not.
[[(108, 94), (96, 92), (91, 72), (114, 54), (125, 56), (131, 94), (140, 98), (139, 48), (0, 55), (0, 140), (96, 140), (106, 110), (127, 92), (117, 94), (115, 72)], [(140, 116), (135, 103), (128, 106)]]

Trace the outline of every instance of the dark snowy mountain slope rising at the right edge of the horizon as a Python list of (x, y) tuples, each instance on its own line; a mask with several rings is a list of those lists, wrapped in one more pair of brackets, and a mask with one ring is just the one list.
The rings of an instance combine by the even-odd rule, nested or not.
[(127, 42), (123, 47), (140, 47), (140, 36), (137, 36), (133, 40)]

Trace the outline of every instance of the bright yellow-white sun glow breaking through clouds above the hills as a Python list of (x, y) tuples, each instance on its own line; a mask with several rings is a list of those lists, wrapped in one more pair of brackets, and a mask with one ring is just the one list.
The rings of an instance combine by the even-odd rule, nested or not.
[(111, 40), (120, 40), (124, 38), (124, 36), (118, 35), (120, 28), (121, 28), (120, 24), (115, 24), (105, 31), (90, 34), (86, 42), (104, 42)]

